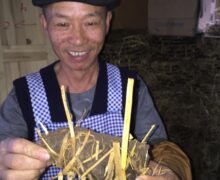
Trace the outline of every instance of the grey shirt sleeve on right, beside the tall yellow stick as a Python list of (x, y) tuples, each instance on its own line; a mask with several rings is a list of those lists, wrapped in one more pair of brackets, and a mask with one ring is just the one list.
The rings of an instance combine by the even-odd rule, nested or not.
[(156, 128), (154, 128), (147, 139), (149, 144), (155, 144), (162, 140), (166, 140), (167, 134), (146, 84), (139, 76), (138, 80), (140, 84), (138, 89), (138, 103), (134, 134), (138, 140), (142, 140), (150, 130), (151, 126), (155, 124)]

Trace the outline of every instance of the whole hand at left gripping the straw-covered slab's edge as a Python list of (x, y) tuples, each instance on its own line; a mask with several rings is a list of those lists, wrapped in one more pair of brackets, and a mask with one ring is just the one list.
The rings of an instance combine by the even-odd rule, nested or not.
[(0, 142), (0, 179), (33, 180), (49, 164), (45, 149), (21, 138), (8, 138)]

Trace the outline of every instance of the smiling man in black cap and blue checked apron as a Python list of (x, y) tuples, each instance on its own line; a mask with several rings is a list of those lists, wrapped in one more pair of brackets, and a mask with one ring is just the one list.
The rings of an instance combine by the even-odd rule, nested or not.
[[(134, 77), (137, 112), (132, 120), (132, 134), (141, 140), (156, 124), (148, 142), (166, 140), (164, 126), (140, 77), (98, 58), (109, 31), (110, 10), (117, 0), (33, 0), (33, 4), (43, 8), (41, 24), (59, 61), (17, 79), (2, 105), (0, 179), (48, 179), (59, 172), (50, 166), (46, 150), (32, 141), (38, 140), (34, 128), (41, 128), (40, 124), (48, 130), (67, 126), (60, 85), (68, 89), (75, 124), (121, 136), (126, 80)], [(84, 110), (87, 115), (81, 122)], [(156, 162), (150, 163), (152, 169), (156, 166)], [(167, 170), (163, 175), (139, 178), (179, 179), (174, 171), (159, 166)]]

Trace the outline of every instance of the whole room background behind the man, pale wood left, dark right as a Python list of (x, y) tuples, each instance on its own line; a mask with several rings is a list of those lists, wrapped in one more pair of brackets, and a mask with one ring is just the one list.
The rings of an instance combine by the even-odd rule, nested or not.
[[(57, 60), (30, 0), (0, 0), (0, 103), (14, 79)], [(101, 53), (147, 83), (193, 179), (220, 179), (220, 1), (121, 0)]]

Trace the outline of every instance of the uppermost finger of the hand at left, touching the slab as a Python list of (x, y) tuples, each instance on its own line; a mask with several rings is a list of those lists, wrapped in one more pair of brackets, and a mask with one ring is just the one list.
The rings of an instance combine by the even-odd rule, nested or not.
[(3, 151), (8, 153), (24, 154), (31, 158), (47, 161), (50, 156), (48, 152), (39, 145), (22, 138), (9, 138), (1, 142)]

